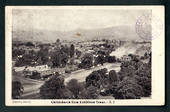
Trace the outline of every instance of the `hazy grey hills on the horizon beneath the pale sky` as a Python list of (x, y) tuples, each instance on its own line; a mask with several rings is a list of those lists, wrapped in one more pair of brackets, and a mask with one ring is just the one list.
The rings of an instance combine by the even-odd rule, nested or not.
[(131, 26), (115, 26), (102, 29), (77, 29), (74, 31), (49, 31), (49, 30), (16, 30), (13, 31), (13, 40), (55, 42), (60, 40), (90, 40), (90, 39), (118, 39), (141, 40)]

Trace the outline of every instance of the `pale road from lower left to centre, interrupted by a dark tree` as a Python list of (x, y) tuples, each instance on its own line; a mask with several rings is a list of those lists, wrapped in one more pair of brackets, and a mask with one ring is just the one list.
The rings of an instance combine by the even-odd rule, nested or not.
[[(78, 70), (75, 72), (72, 72), (71, 74), (63, 74), (65, 76), (65, 84), (69, 82), (71, 79), (77, 79), (79, 82), (84, 82), (86, 77), (90, 75), (91, 72), (95, 70), (99, 70), (102, 68), (107, 68), (108, 71), (110, 70), (120, 70), (120, 64), (113, 64), (113, 63), (105, 63), (103, 66), (97, 66), (94, 68), (91, 68), (89, 70)], [(18, 80), (23, 84), (24, 87), (24, 93), (21, 97), (21, 99), (39, 99), (40, 95), (40, 87), (44, 84), (45, 81), (38, 81), (33, 80), (29, 78), (25, 78), (22, 76), (13, 76), (13, 80)]]

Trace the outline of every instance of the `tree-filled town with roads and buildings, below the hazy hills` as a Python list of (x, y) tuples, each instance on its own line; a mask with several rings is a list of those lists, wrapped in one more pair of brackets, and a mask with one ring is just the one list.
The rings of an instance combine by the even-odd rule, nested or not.
[(12, 41), (12, 77), (14, 99), (149, 97), (151, 42)]

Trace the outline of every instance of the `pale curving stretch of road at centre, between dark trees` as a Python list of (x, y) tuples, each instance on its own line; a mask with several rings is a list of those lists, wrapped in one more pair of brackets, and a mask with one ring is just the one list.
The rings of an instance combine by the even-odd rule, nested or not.
[(69, 82), (71, 79), (77, 79), (78, 82), (84, 82), (86, 80), (86, 77), (88, 75), (90, 75), (90, 73), (92, 73), (95, 70), (99, 70), (99, 69), (103, 69), (103, 68), (107, 68), (108, 71), (110, 70), (115, 70), (115, 71), (120, 71), (120, 64), (119, 63), (105, 63), (103, 66), (97, 66), (94, 67), (92, 69), (89, 70), (80, 70), (80, 71), (75, 71), (72, 72), (71, 74), (66, 74), (69, 75), (68, 77), (66, 76), (65, 78), (65, 84), (67, 84), (67, 82)]

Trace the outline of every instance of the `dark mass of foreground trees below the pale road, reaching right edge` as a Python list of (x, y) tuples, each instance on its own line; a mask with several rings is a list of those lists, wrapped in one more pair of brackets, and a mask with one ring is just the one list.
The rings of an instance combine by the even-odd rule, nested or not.
[[(45, 99), (97, 99), (100, 96), (113, 96), (115, 99), (140, 99), (151, 95), (151, 64), (140, 61), (122, 63), (116, 73), (107, 69), (93, 71), (84, 83), (76, 79), (64, 85), (60, 75), (48, 80), (40, 94)], [(47, 92), (48, 91), (48, 92)]]

